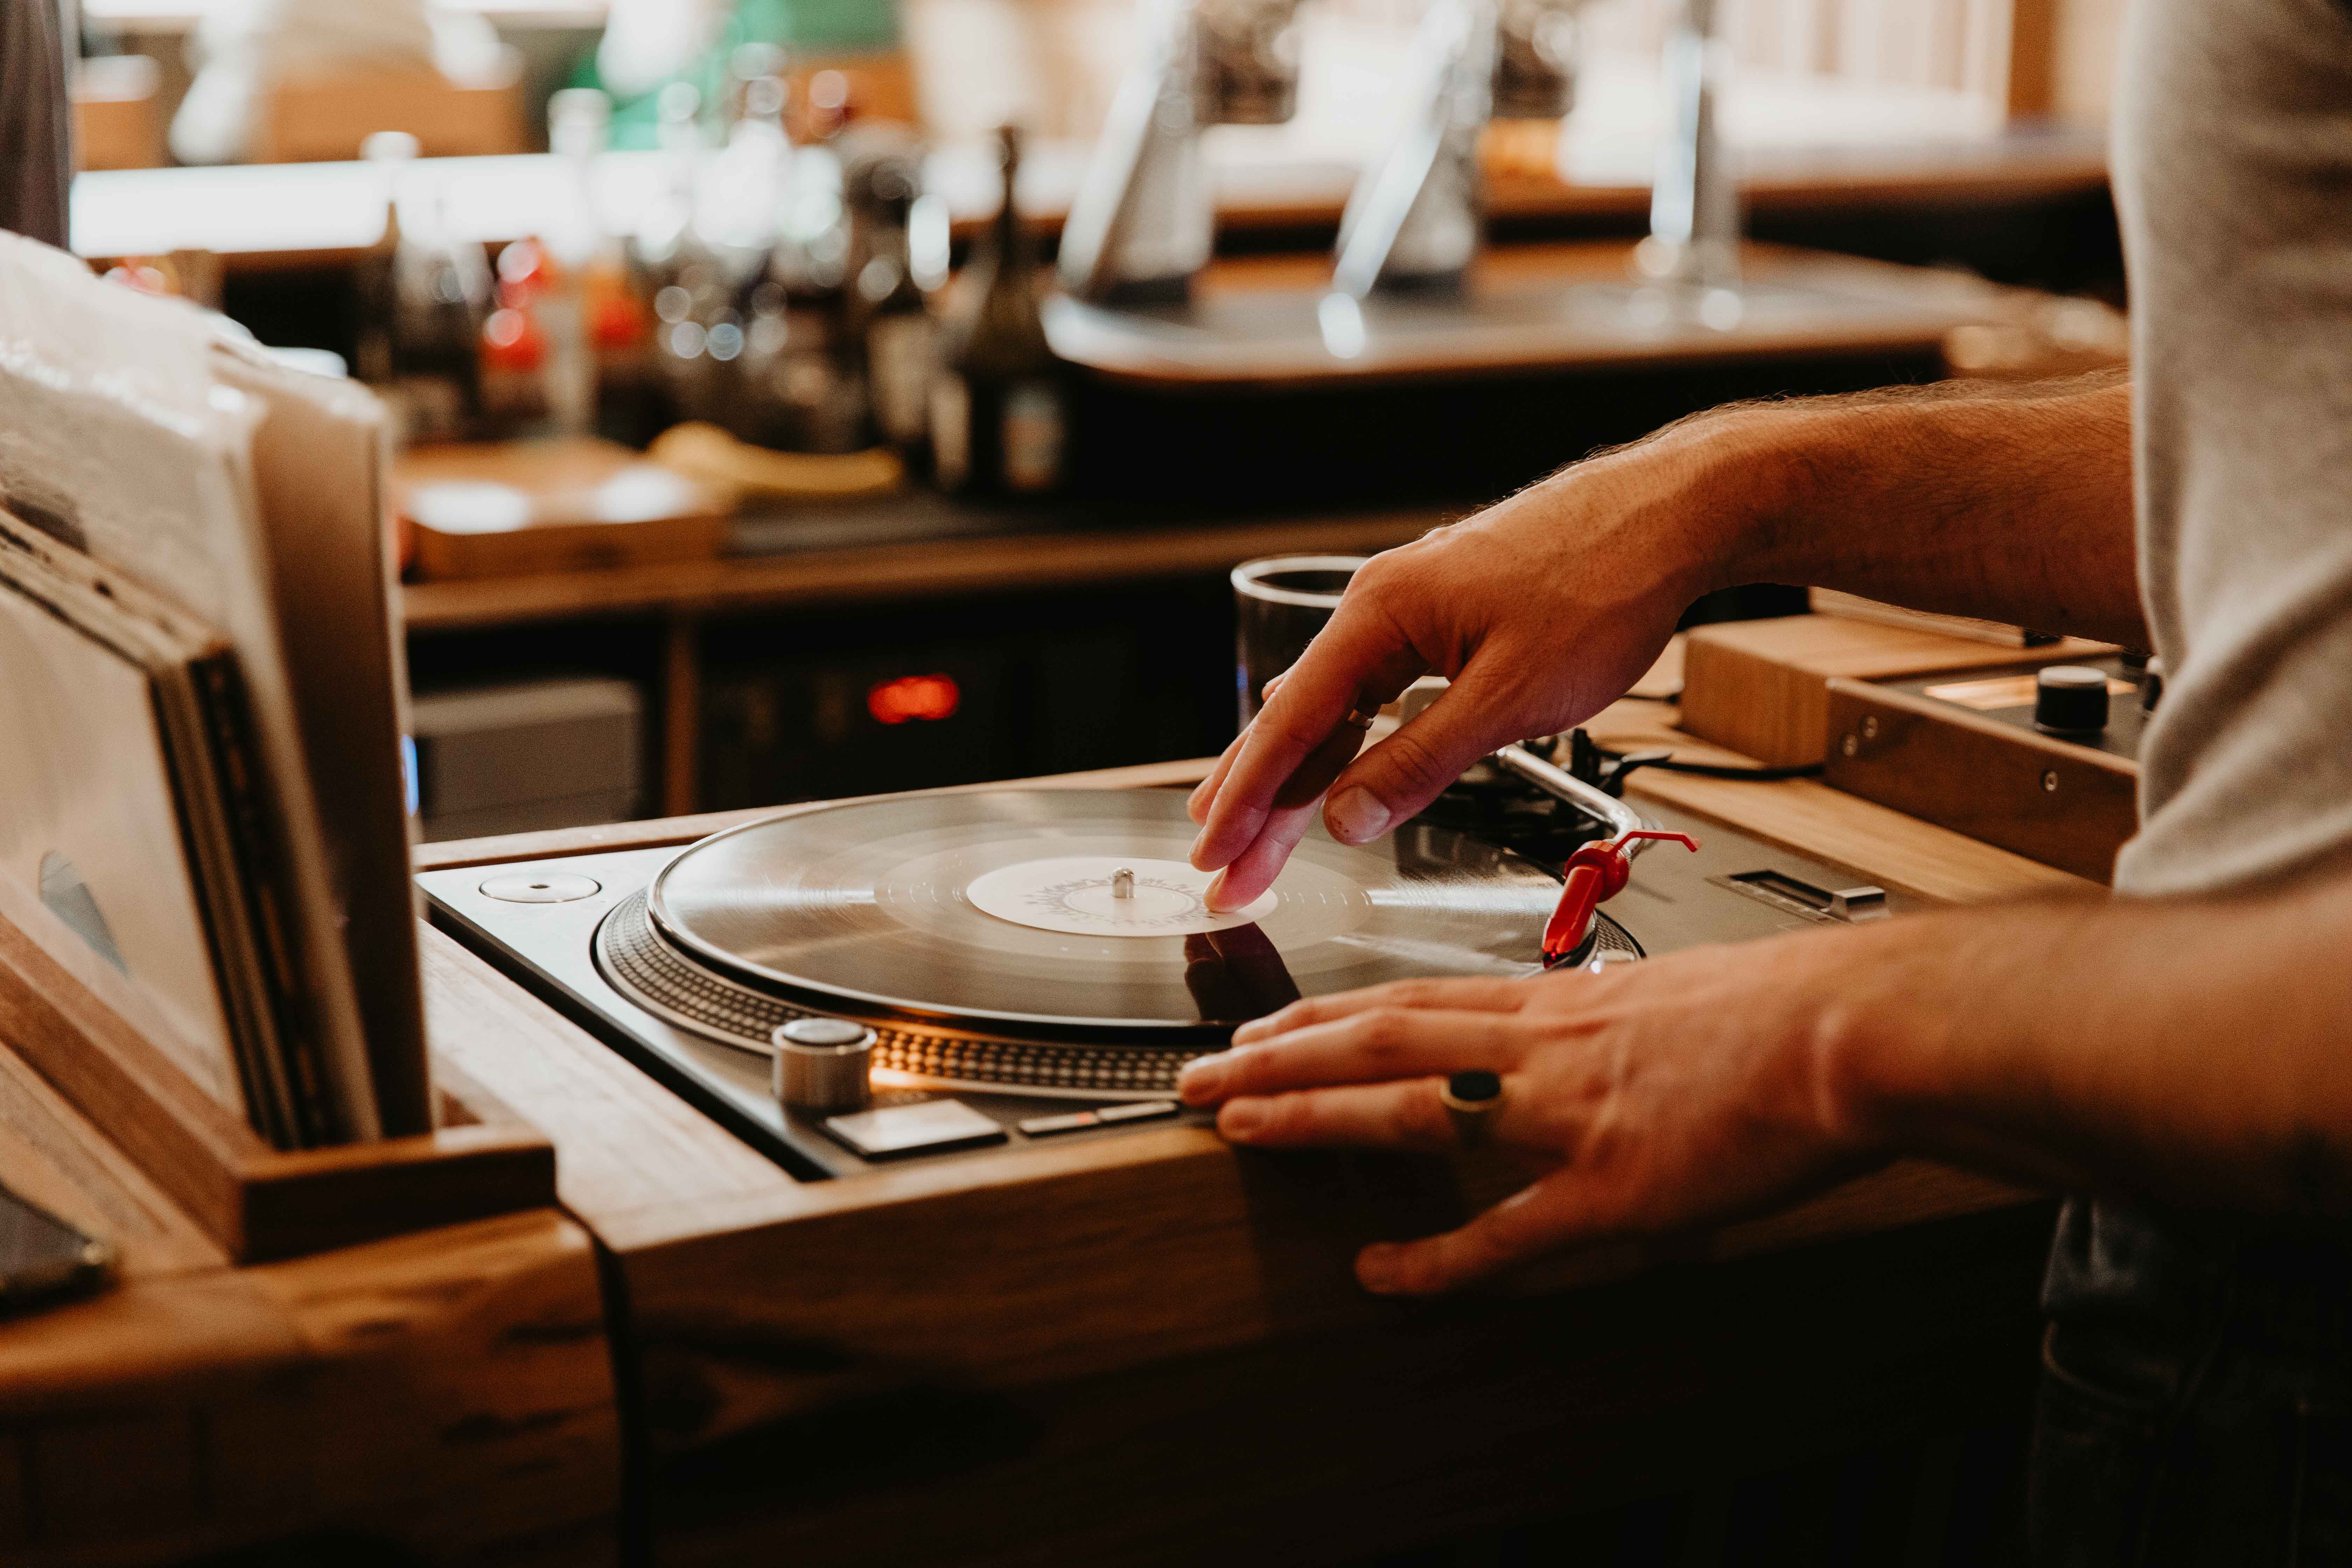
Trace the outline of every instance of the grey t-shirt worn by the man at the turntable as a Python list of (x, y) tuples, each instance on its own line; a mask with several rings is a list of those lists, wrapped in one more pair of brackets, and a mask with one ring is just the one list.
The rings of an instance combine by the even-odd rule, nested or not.
[(2136, 0), (2114, 188), (2169, 670), (2114, 882), (2352, 865), (2352, 0)]

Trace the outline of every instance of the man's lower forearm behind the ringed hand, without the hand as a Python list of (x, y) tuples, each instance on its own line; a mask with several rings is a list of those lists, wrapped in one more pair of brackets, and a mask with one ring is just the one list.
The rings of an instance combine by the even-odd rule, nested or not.
[(1828, 1095), (1886, 1147), (2347, 1225), (2347, 950), (2352, 882), (1891, 922), (1825, 976)]

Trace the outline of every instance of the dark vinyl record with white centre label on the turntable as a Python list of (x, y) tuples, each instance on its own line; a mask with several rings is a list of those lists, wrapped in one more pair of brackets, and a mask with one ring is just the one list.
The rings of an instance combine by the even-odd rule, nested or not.
[(1174, 790), (898, 795), (703, 839), (647, 903), (668, 943), (757, 990), (1040, 1039), (1181, 1044), (1298, 997), (1541, 969), (1559, 884), (1503, 849), (1317, 825), (1268, 898), (1214, 917), (1192, 835)]

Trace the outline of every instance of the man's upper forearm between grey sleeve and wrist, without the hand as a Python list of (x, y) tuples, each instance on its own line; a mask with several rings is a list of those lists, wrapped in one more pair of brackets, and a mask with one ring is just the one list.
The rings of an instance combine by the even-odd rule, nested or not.
[(1717, 585), (1842, 588), (2147, 646), (2122, 374), (1743, 404), (1670, 437), (1715, 444), (1738, 491)]

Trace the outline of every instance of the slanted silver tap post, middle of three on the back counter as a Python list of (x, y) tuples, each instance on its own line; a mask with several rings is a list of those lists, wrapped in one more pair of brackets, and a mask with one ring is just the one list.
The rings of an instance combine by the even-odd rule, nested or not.
[(1421, 78), (1388, 153), (1341, 214), (1331, 289), (1458, 284), (1484, 237), (1477, 143), (1489, 120), (1557, 120), (1576, 101), (1583, 0), (1432, 0), (1414, 38)]

